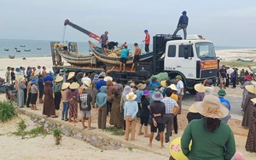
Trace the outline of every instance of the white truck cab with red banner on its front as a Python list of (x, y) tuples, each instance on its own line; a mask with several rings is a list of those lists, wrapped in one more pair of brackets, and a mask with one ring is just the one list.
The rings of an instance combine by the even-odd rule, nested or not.
[(218, 60), (211, 41), (201, 35), (188, 35), (186, 40), (166, 43), (164, 70), (173, 75), (181, 75), (188, 88), (207, 78), (216, 78)]

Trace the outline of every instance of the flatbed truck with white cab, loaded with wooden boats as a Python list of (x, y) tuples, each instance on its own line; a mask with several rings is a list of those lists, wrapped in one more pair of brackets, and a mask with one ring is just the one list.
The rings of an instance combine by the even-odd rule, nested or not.
[[(60, 63), (56, 63), (54, 59), (56, 54), (54, 43), (51, 43), (54, 71), (63, 68), (67, 68), (67, 71), (74, 71), (79, 82), (84, 76), (84, 72), (90, 73), (90, 78), (102, 72), (102, 66), (91, 68), (89, 66), (58, 65)], [(77, 49), (73, 46), (67, 47), (67, 49), (74, 48)], [(188, 35), (187, 39), (182, 39), (180, 36), (174, 37), (170, 34), (156, 34), (153, 37), (153, 58), (151, 60), (139, 63), (139, 66), (135, 67), (135, 71), (114, 70), (109, 72), (108, 76), (113, 77), (113, 81), (119, 80), (121, 83), (131, 80), (141, 83), (152, 75), (167, 72), (172, 81), (177, 75), (183, 77), (184, 91), (195, 94), (196, 83), (202, 83), (205, 79), (213, 81), (217, 79), (218, 64), (213, 43), (201, 35)]]

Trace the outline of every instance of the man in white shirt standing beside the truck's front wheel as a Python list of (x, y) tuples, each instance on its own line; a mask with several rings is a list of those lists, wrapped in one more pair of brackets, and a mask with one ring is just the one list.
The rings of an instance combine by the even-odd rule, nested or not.
[(180, 75), (177, 75), (176, 77), (176, 82), (177, 82), (177, 85), (176, 85), (176, 88), (177, 88), (177, 96), (178, 96), (178, 101), (177, 101), (177, 105), (179, 106), (179, 111), (178, 111), (178, 114), (181, 114), (181, 110), (182, 110), (182, 100), (183, 100), (183, 90), (184, 90), (184, 84), (183, 84), (183, 77), (181, 77)]

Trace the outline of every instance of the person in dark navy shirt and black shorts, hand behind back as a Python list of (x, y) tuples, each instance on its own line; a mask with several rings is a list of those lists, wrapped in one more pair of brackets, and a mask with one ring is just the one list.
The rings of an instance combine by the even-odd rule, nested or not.
[(164, 148), (164, 139), (163, 139), (163, 132), (164, 132), (164, 115), (166, 114), (166, 106), (160, 100), (163, 100), (163, 95), (157, 91), (154, 92), (152, 95), (152, 101), (150, 103), (150, 116), (152, 117), (153, 123), (151, 124), (151, 134), (149, 136), (149, 147), (152, 147), (152, 140), (154, 137), (154, 133), (159, 132), (160, 134), (160, 147)]

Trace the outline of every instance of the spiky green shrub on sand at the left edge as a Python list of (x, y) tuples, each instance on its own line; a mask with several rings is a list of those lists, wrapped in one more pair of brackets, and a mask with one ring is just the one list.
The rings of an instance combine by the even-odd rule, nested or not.
[(6, 123), (17, 116), (15, 105), (11, 101), (0, 101), (0, 122)]

